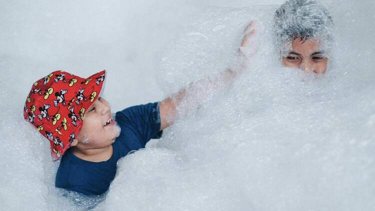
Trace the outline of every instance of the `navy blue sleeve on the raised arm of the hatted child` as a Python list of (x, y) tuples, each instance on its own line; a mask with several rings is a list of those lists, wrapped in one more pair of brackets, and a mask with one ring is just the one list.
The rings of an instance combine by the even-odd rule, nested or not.
[(142, 147), (151, 138), (159, 138), (160, 131), (160, 111), (159, 103), (147, 103), (135, 105), (116, 112), (117, 118), (121, 122), (126, 122), (126, 126), (137, 136)]

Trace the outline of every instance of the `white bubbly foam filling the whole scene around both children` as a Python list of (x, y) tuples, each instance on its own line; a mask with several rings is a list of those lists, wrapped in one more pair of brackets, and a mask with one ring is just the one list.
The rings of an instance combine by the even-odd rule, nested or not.
[[(263, 29), (259, 33), (267, 35), (262, 17), (274, 8), (211, 7), (183, 26), (186, 16), (204, 5), (255, 2), (117, 3), (1, 6), (6, 11), (0, 25), (7, 29), (0, 34), (1, 209), (82, 210), (100, 202), (97, 210), (375, 206), (371, 1), (327, 0), (338, 50), (335, 66), (324, 77), (277, 66), (263, 69), (267, 62), (258, 59), (259, 68), (209, 94), (196, 112), (165, 130), (162, 140), (121, 159), (106, 198), (55, 188), (58, 162), (51, 161), (49, 143), (22, 117), (34, 80), (57, 68), (81, 76), (106, 68), (103, 96), (117, 103), (111, 103), (113, 110), (157, 100), (162, 93), (154, 84), (150, 60), (180, 29), (185, 28), (180, 39), (157, 58), (163, 58), (156, 68), (165, 96), (232, 65), (248, 20), (256, 17)], [(132, 16), (135, 8), (143, 9), (147, 23)], [(77, 16), (84, 18), (77, 22)], [(269, 48), (267, 40), (260, 43), (259, 49)], [(262, 53), (260, 57), (272, 57)]]

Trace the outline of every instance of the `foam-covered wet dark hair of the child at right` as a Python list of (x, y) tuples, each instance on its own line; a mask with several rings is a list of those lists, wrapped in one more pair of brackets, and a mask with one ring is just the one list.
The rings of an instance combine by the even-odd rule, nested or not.
[(328, 45), (333, 41), (332, 17), (316, 0), (287, 0), (275, 11), (273, 24), (273, 41), (281, 51), (296, 38), (316, 37)]

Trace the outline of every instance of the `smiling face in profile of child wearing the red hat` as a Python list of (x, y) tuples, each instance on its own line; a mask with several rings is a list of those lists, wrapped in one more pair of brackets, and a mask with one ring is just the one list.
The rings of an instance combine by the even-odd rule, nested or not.
[(119, 135), (119, 129), (112, 119), (109, 103), (102, 97), (88, 107), (84, 114), (82, 129), (77, 139), (84, 148), (102, 148), (110, 145)]

